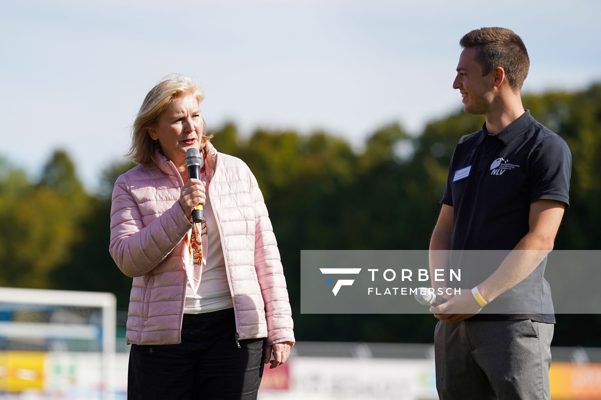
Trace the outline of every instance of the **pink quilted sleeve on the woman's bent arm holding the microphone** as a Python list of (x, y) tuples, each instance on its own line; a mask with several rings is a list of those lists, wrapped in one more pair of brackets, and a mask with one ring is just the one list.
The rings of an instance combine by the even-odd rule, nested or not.
[(179, 201), (175, 201), (170, 209), (144, 227), (126, 174), (117, 178), (112, 193), (109, 252), (125, 275), (133, 278), (150, 272), (191, 226)]

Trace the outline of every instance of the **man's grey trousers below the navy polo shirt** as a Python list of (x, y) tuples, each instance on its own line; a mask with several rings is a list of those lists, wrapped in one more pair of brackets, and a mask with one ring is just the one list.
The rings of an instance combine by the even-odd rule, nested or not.
[(549, 400), (553, 330), (531, 320), (438, 321), (440, 400)]

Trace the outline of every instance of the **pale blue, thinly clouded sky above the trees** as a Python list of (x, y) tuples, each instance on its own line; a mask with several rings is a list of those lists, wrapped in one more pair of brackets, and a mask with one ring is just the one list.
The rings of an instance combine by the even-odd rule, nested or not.
[(66, 149), (93, 189), (169, 73), (201, 83), (209, 131), (325, 129), (361, 148), (383, 124), (419, 133), (459, 109), (459, 39), (481, 26), (522, 37), (525, 92), (601, 80), (600, 11), (578, 0), (2, 2), (0, 155), (35, 176)]

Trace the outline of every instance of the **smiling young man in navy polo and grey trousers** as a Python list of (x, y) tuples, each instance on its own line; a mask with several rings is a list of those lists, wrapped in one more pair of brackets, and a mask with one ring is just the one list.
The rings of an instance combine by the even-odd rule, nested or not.
[[(440, 320), (436, 388), (441, 400), (549, 399), (555, 317), (543, 273), (569, 206), (572, 155), (561, 137), (523, 109), (520, 89), (529, 58), (518, 35), (481, 28), (459, 43), (453, 88), (462, 95), (463, 110), (486, 122), (455, 148), (430, 254), (494, 250), (507, 257), (492, 275), (444, 295), (448, 301), (430, 310)], [(490, 313), (504, 300), (540, 311)]]

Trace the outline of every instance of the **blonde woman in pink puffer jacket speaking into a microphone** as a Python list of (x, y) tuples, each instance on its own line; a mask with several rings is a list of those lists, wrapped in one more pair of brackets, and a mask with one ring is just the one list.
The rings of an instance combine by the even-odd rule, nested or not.
[[(112, 195), (109, 251), (133, 278), (126, 340), (129, 399), (255, 399), (263, 362), (294, 345), (288, 292), (257, 181), (211, 145), (188, 77), (146, 95)], [(186, 151), (198, 148), (200, 179)], [(192, 222), (204, 206), (205, 222)]]

